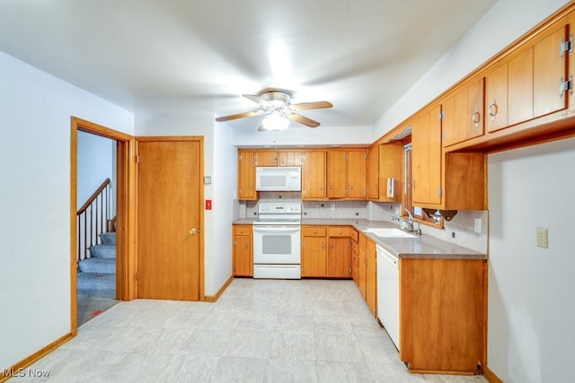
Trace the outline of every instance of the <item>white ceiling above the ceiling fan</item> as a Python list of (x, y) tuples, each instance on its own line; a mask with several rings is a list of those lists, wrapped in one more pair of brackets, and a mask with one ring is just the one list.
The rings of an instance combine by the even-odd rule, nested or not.
[(371, 126), (496, 1), (2, 0), (0, 50), (134, 112), (225, 116), (279, 87)]

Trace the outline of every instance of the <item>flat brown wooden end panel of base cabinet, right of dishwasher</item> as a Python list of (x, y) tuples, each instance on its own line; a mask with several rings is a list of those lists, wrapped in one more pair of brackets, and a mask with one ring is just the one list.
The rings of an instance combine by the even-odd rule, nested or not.
[(400, 258), (399, 350), (411, 372), (482, 373), (486, 265), (482, 259)]

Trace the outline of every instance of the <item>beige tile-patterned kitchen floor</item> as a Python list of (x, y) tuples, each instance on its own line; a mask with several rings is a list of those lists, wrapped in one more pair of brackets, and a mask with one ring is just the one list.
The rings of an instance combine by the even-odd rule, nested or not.
[(407, 372), (351, 281), (236, 279), (216, 303), (132, 300), (31, 366), (57, 382), (486, 382)]

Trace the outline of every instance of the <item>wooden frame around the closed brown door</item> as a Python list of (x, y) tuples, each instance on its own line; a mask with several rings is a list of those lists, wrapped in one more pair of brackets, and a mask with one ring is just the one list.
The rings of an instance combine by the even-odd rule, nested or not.
[[(137, 158), (137, 143), (138, 142), (176, 142), (176, 141), (196, 141), (199, 143), (199, 174), (198, 174), (198, 181), (199, 181), (199, 301), (206, 300), (206, 294), (204, 289), (204, 241), (205, 241), (205, 231), (204, 231), (204, 209), (203, 209), (203, 201), (204, 201), (204, 137), (203, 135), (170, 135), (170, 136), (157, 136), (157, 135), (146, 135), (146, 136), (137, 136), (135, 140), (135, 150), (136, 150), (136, 158)], [(135, 167), (137, 170), (137, 164), (135, 162)], [(134, 182), (135, 193), (137, 190), (137, 174)], [(137, 201), (136, 201), (137, 202)], [(133, 209), (137, 211), (137, 204), (132, 205)], [(134, 212), (136, 214), (136, 212)], [(136, 233), (134, 233), (136, 236)], [(135, 249), (135, 257), (137, 258), (137, 248)], [(137, 270), (137, 268), (136, 268)], [(136, 282), (136, 281), (135, 281)], [(135, 288), (137, 288), (137, 283)], [(136, 291), (136, 289), (135, 289)], [(137, 291), (136, 291), (137, 292)], [(137, 298), (137, 295), (134, 297)]]

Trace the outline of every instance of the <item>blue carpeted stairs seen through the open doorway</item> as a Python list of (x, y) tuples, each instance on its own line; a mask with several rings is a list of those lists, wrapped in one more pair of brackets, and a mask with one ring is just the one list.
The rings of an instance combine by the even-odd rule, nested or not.
[(77, 292), (116, 299), (116, 233), (100, 234), (101, 244), (89, 248), (90, 257), (78, 262)]

